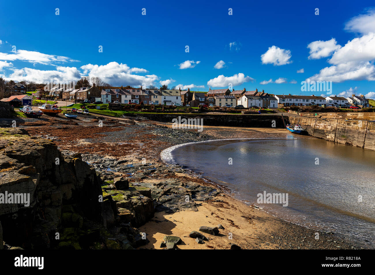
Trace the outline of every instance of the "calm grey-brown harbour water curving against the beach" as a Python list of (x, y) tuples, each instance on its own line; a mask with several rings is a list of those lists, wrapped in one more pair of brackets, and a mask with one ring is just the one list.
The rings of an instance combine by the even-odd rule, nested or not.
[[(193, 143), (170, 156), (277, 217), (375, 247), (374, 151), (293, 136)], [(259, 204), (264, 192), (288, 194), (288, 206)]]

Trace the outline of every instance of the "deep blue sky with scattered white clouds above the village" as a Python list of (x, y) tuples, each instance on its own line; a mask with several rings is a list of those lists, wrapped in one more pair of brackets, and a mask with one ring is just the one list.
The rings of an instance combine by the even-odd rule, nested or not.
[(310, 78), (333, 81), (332, 94), (375, 98), (374, 6), (1, 1), (0, 76), (36, 82), (99, 76), (114, 86), (167, 83), (199, 91), (232, 83), (274, 94), (311, 94), (301, 91)]

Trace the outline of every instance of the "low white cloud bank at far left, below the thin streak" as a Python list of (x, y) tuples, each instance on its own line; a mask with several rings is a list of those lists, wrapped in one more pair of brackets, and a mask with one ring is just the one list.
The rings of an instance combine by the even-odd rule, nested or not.
[(37, 83), (43, 82), (64, 82), (78, 80), (81, 74), (76, 67), (56, 67), (56, 70), (37, 70), (32, 68), (12, 69), (13, 73), (4, 76), (6, 80), (28, 80)]

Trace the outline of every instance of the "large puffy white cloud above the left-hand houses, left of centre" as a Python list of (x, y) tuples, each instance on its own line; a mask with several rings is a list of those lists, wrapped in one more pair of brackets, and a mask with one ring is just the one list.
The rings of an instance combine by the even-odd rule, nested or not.
[(110, 83), (114, 86), (130, 85), (130, 86), (148, 86), (153, 85), (154, 81), (158, 80), (154, 74), (139, 76), (132, 74), (136, 72), (147, 72), (145, 69), (130, 68), (126, 64), (118, 64), (117, 62), (110, 62), (107, 65), (93, 65), (87, 64), (81, 66), (83, 74), (88, 74), (89, 77), (100, 77), (104, 82)]

